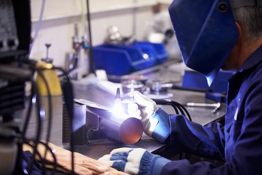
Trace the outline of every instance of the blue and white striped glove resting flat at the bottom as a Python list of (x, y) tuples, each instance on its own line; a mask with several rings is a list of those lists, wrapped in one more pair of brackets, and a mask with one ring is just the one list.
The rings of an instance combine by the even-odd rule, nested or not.
[(161, 173), (165, 164), (170, 160), (154, 155), (142, 148), (118, 148), (110, 154), (99, 158), (109, 166), (129, 174), (155, 174)]

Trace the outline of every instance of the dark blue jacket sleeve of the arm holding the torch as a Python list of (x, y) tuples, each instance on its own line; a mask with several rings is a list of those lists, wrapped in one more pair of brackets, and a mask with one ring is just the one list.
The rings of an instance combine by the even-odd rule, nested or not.
[(169, 115), (170, 144), (177, 151), (225, 160), (225, 134), (220, 123), (202, 126), (183, 115)]

